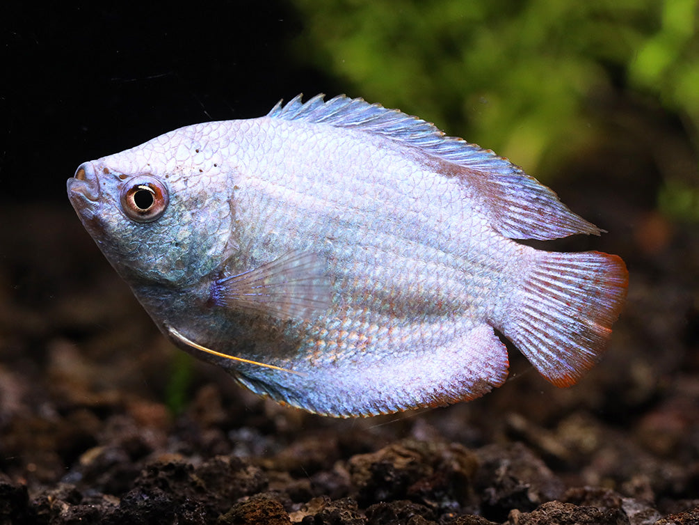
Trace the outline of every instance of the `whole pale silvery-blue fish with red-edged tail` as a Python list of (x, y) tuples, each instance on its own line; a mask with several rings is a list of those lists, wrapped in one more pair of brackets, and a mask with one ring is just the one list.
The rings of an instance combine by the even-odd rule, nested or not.
[(603, 232), (551, 189), (361, 98), (181, 127), (67, 190), (175, 346), (326, 416), (478, 398), (507, 377), (505, 339), (570, 386), (626, 298), (619, 256), (518, 242)]

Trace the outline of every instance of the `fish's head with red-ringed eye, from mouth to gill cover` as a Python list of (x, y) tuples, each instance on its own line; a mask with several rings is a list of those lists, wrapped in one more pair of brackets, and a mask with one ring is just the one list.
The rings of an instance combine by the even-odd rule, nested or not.
[(109, 262), (136, 288), (189, 286), (216, 272), (231, 246), (225, 185), (212, 185), (191, 163), (138, 162), (124, 153), (84, 162), (67, 183), (73, 208)]

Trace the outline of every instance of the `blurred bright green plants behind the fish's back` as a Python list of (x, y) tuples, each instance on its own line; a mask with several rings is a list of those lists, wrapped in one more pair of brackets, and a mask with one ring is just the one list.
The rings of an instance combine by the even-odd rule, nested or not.
[(689, 169), (665, 177), (658, 207), (699, 221), (698, 0), (294, 4), (305, 26), (297, 57), (347, 94), (430, 120), (542, 180), (609, 133), (604, 101), (658, 105), (694, 152)]

